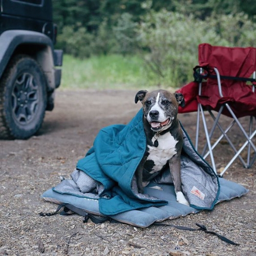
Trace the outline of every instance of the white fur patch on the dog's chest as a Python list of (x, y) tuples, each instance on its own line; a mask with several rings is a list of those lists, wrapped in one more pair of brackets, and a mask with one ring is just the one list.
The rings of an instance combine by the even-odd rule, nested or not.
[[(153, 137), (152, 142), (154, 143), (156, 139)], [(169, 132), (160, 135), (158, 138), (158, 147), (148, 146), (148, 157), (147, 160), (154, 161), (154, 167), (150, 173), (159, 172), (166, 164), (166, 162), (172, 158), (176, 152), (176, 144), (178, 140), (170, 134)]]

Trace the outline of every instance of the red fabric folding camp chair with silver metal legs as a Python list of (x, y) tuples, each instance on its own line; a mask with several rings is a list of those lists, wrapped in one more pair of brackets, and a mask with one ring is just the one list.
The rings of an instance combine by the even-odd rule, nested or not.
[[(234, 156), (224, 167), (220, 176), (237, 158), (241, 160), (245, 168), (250, 168), (256, 158), (256, 147), (252, 140), (256, 134), (256, 129), (253, 129), (253, 119), (256, 118), (256, 48), (229, 48), (201, 44), (199, 45), (198, 59), (199, 66), (194, 68), (195, 81), (178, 90), (185, 98), (185, 107), (180, 108), (179, 113), (197, 111), (195, 147), (198, 149), (201, 116), (206, 136), (202, 156), (205, 159), (210, 155), (211, 165), (215, 172), (217, 173), (213, 150), (223, 138), (231, 146)], [(204, 111), (208, 111), (213, 119), (210, 129), (207, 128), (209, 123)], [(212, 111), (218, 113), (214, 114)], [(220, 124), (221, 115), (231, 118), (226, 129), (223, 129)], [(249, 116), (248, 132), (245, 131), (245, 127), (239, 121), (239, 118), (245, 116)], [(245, 138), (245, 142), (242, 146), (240, 145), (239, 149), (232, 142), (232, 135), (228, 134), (234, 124), (238, 125)], [(212, 142), (212, 135), (217, 127), (221, 136)], [(247, 159), (245, 161), (241, 153), (246, 147)]]

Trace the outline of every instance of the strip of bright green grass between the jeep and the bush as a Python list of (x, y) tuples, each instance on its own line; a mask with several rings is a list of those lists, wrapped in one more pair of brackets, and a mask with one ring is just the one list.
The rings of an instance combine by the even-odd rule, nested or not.
[(78, 59), (64, 55), (62, 89), (141, 89), (147, 86), (138, 56), (107, 55)]

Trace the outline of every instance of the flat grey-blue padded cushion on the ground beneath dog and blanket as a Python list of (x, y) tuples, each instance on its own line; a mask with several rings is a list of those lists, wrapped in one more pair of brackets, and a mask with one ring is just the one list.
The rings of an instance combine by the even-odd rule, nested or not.
[[(217, 203), (241, 197), (248, 193), (244, 186), (220, 178), (220, 194)], [(130, 224), (137, 227), (148, 227), (154, 222), (161, 222), (167, 219), (175, 219), (188, 214), (196, 214), (201, 211), (190, 206), (180, 204), (176, 201), (176, 195), (173, 185), (155, 184), (151, 182), (144, 189), (144, 193), (168, 201), (167, 205), (160, 207), (147, 207), (140, 210), (130, 210), (110, 216), (112, 219)], [(46, 201), (61, 204), (67, 203), (72, 205), (72, 210), (77, 214), (85, 216), (90, 213), (96, 216), (104, 216), (99, 211), (97, 199), (88, 199), (77, 197), (69, 194), (56, 193), (52, 189), (47, 190), (42, 196)]]

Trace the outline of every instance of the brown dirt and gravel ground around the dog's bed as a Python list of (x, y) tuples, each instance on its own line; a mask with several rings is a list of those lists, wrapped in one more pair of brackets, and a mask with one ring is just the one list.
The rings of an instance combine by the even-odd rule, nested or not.
[[(209, 230), (239, 243), (229, 245), (202, 231), (153, 225), (135, 228), (121, 223), (83, 223), (78, 215), (39, 217), (56, 205), (41, 194), (68, 178), (92, 146), (101, 127), (127, 123), (140, 109), (136, 91), (57, 91), (53, 112), (29, 140), (0, 141), (0, 255), (256, 255), (256, 168), (235, 162), (224, 178), (243, 184), (247, 195), (165, 223)], [(196, 115), (179, 116), (192, 140)], [(225, 123), (227, 118), (223, 119)], [(233, 138), (242, 143), (237, 129)], [(203, 145), (204, 138), (200, 140)], [(230, 157), (223, 143), (218, 168)]]

